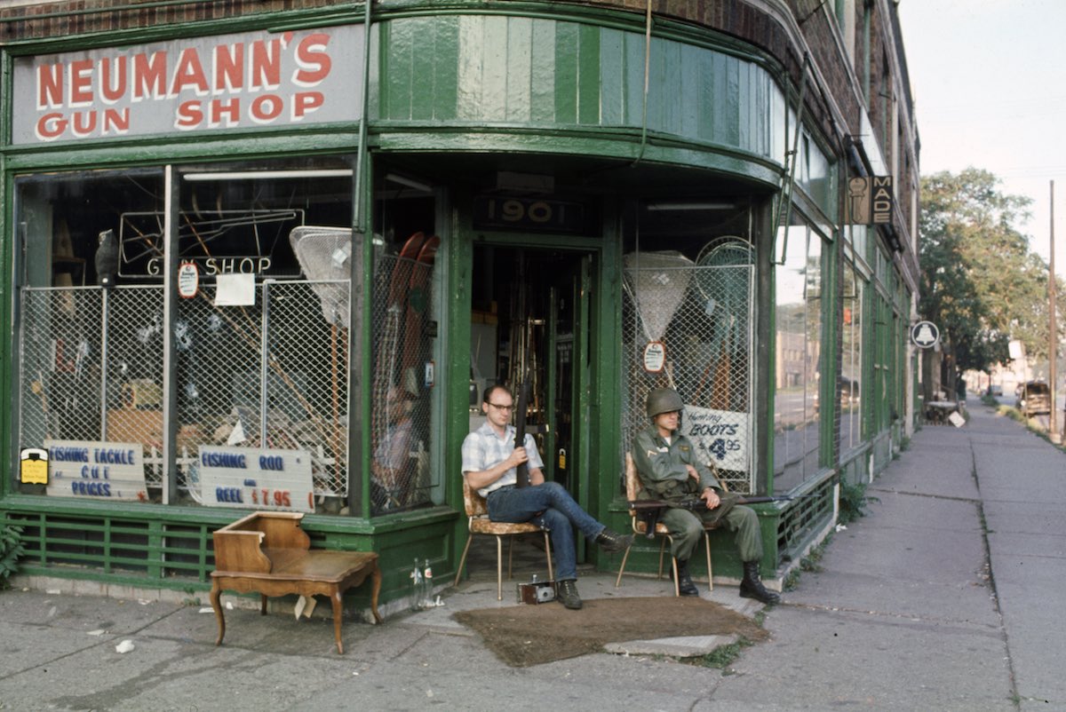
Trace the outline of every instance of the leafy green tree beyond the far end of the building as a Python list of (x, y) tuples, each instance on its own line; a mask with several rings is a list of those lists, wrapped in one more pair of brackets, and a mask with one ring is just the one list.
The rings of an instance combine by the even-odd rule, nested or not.
[(922, 178), (919, 312), (940, 327), (949, 383), (1007, 361), (1012, 339), (1048, 354), (1048, 266), (1015, 228), (1032, 200), (999, 182), (973, 167)]

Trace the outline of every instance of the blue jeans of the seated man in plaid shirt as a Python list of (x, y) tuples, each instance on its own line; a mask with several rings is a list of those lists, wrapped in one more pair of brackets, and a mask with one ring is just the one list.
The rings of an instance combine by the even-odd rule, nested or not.
[[(555, 554), (555, 579), (578, 578), (578, 553), (574, 543), (577, 527), (589, 539), (599, 536), (607, 527), (593, 519), (558, 482), (535, 487), (502, 487), (488, 493), (488, 518), (492, 521), (518, 523), (531, 521), (548, 530)], [(539, 516), (538, 512), (543, 512)]]

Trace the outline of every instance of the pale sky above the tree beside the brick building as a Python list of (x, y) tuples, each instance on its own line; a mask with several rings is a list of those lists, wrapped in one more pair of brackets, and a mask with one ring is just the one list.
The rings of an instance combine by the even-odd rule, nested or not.
[(1066, 275), (1066, 0), (899, 0), (923, 176), (967, 166), (1032, 198), (1016, 225)]

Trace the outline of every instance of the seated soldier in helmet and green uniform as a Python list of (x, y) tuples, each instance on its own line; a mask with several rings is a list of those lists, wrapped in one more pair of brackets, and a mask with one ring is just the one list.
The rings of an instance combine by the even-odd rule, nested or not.
[(677, 559), (678, 590), (682, 596), (698, 596), (689, 573), (689, 559), (704, 535), (704, 522), (725, 522), (736, 533), (737, 549), (744, 564), (740, 595), (763, 603), (777, 603), (780, 597), (766, 590), (759, 578), (762, 536), (755, 511), (737, 504), (739, 497), (725, 492), (714, 473), (696, 458), (692, 442), (678, 432), (684, 403), (673, 388), (656, 388), (648, 393), (648, 418), (651, 427), (633, 440), (633, 463), (644, 486), (641, 497), (677, 502), (698, 497), (707, 509), (693, 512), (665, 507), (659, 521), (669, 530), (671, 553)]

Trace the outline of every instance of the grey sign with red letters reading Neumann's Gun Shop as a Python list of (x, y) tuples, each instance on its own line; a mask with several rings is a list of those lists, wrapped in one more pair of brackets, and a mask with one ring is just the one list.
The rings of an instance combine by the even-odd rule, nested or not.
[(16, 58), (12, 143), (354, 122), (361, 25)]

